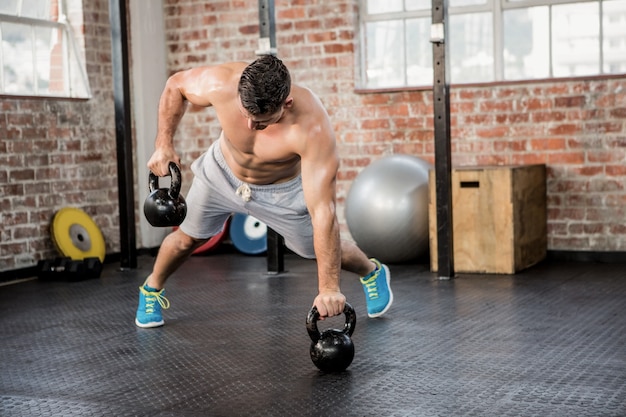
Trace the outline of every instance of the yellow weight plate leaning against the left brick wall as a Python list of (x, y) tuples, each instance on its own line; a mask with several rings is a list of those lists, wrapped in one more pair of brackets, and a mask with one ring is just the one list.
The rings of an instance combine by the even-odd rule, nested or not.
[(50, 232), (54, 246), (62, 256), (74, 260), (98, 257), (104, 262), (106, 247), (102, 232), (81, 209), (64, 207), (57, 211)]

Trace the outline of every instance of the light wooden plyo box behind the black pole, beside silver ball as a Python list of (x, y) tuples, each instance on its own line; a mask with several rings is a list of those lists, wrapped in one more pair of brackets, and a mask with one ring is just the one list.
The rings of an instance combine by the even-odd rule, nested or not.
[[(437, 271), (435, 172), (429, 175), (430, 266)], [(452, 170), (454, 270), (514, 274), (547, 251), (545, 165)]]

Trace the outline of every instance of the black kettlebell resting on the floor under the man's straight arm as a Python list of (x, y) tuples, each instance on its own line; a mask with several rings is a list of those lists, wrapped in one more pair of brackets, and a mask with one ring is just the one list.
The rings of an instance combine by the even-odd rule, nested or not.
[(328, 329), (321, 333), (317, 328), (320, 318), (317, 307), (313, 306), (307, 315), (306, 329), (311, 337), (311, 360), (323, 372), (341, 372), (354, 359), (354, 344), (350, 336), (356, 326), (356, 313), (348, 303), (343, 313), (346, 315), (343, 330)]

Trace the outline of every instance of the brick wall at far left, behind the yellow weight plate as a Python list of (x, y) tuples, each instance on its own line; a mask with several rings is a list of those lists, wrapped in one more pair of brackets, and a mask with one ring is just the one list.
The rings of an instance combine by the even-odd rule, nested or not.
[(0, 271), (57, 256), (49, 226), (66, 206), (86, 211), (107, 252), (119, 252), (108, 1), (84, 7), (84, 26), (72, 22), (85, 33), (93, 98), (0, 99)]

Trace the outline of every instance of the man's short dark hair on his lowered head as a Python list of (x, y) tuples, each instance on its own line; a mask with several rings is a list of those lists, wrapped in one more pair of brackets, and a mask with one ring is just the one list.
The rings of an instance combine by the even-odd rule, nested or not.
[(239, 80), (241, 104), (252, 116), (280, 110), (291, 91), (291, 76), (283, 62), (263, 55), (248, 65)]

